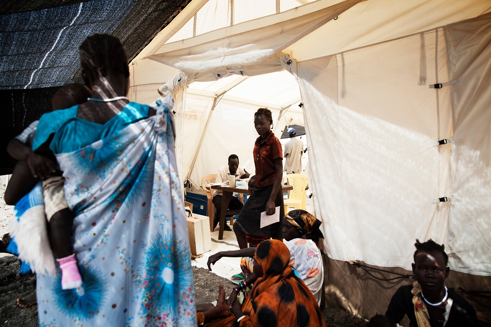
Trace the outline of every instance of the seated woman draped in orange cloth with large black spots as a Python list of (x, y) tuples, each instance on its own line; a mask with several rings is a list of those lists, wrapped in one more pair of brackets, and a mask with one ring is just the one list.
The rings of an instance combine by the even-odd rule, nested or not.
[(283, 242), (266, 240), (257, 246), (254, 274), (259, 279), (244, 304), (231, 296), (227, 305), (232, 315), (211, 326), (236, 326), (236, 322), (240, 327), (326, 326), (314, 296), (290, 267), (290, 253)]

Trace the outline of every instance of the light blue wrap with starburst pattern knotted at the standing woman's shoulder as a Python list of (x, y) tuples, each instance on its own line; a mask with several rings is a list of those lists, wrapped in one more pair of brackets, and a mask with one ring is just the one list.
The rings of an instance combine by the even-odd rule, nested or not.
[(39, 326), (196, 326), (173, 121), (157, 115), (57, 154), (82, 288), (38, 275)]

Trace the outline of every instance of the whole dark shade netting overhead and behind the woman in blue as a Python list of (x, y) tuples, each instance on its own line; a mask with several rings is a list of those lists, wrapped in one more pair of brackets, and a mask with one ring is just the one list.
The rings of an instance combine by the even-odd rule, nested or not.
[(132, 59), (190, 1), (2, 2), (0, 174), (8, 173), (15, 164), (6, 153), (8, 142), (51, 110), (51, 98), (59, 86), (82, 82), (79, 46), (87, 36), (117, 36)]

